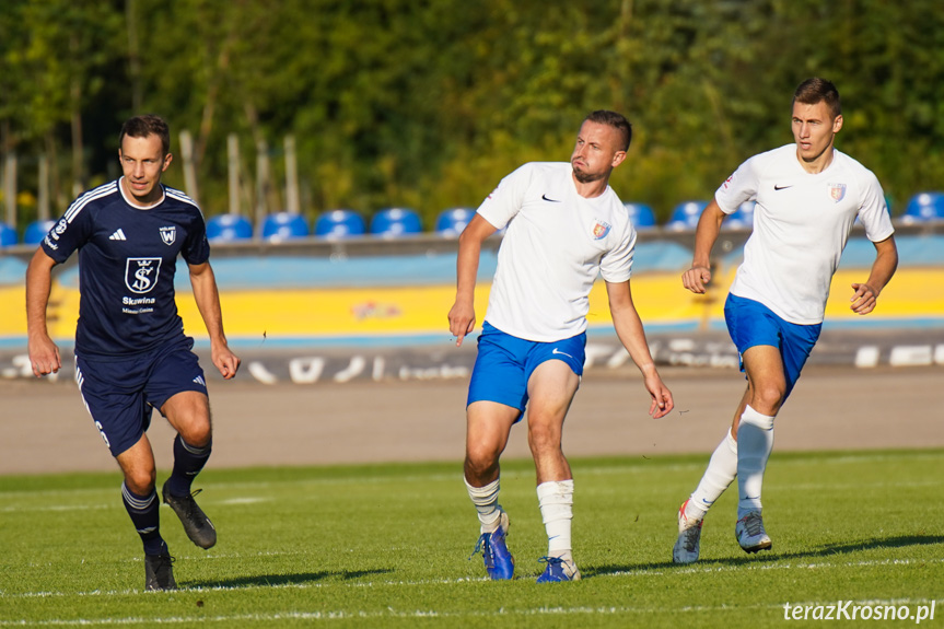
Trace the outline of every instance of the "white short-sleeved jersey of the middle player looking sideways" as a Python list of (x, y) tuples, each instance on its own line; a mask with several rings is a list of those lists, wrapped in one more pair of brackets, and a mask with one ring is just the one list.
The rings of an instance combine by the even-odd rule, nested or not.
[(568, 162), (521, 166), (478, 213), (497, 229), (508, 225), (486, 313), (503, 333), (543, 342), (579, 335), (597, 275), (629, 279), (636, 230), (626, 208), (609, 186), (581, 197)]

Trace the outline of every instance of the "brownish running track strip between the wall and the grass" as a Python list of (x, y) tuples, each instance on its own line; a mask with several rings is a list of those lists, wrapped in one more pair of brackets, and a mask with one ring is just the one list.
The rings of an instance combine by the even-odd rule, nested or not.
[[(210, 366), (212, 369), (212, 366)], [(634, 368), (588, 371), (564, 427), (568, 456), (709, 454), (744, 392), (731, 369), (666, 368), (676, 409), (653, 420)], [(0, 474), (115, 470), (71, 382), (0, 381)], [(461, 469), (466, 378), (275, 385), (211, 382), (211, 468), (453, 461)], [(504, 457), (528, 457), (518, 424)], [(173, 431), (148, 432), (171, 467)], [(944, 447), (944, 369), (807, 368), (777, 419), (778, 452)]]

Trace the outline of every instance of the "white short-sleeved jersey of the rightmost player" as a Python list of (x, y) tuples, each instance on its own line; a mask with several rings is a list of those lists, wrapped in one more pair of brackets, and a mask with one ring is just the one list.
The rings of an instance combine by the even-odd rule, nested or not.
[(796, 144), (760, 153), (744, 162), (714, 198), (729, 214), (744, 201), (757, 201), (754, 233), (731, 292), (794, 324), (823, 322), (829, 283), (856, 217), (872, 242), (895, 231), (878, 179), (836, 150), (817, 174), (803, 170)]

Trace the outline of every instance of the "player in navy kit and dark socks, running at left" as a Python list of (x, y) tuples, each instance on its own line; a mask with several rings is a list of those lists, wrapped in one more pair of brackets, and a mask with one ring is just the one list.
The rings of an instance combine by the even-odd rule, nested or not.
[(194, 544), (210, 548), (217, 541), (213, 524), (190, 491), (210, 456), (212, 431), (203, 371), (174, 302), (178, 255), (189, 268), (213, 364), (228, 380), (240, 368), (223, 334), (203, 217), (186, 195), (161, 184), (172, 161), (170, 144), (160, 117), (126, 121), (118, 151), (124, 176), (75, 199), (26, 270), (30, 360), (38, 377), (61, 368), (46, 329), (51, 270), (79, 251), (75, 380), (125, 475), (121, 497), (143, 541), (145, 590), (177, 586), (159, 528), (154, 454), (145, 434), (154, 408), (177, 431), (163, 500)]

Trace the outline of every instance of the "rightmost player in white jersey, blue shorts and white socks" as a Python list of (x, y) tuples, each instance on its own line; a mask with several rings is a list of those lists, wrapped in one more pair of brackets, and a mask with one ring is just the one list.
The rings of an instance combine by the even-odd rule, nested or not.
[(735, 477), (738, 544), (746, 552), (772, 546), (760, 489), (773, 449), (773, 419), (819, 337), (829, 284), (856, 217), (875, 245), (875, 260), (865, 281), (851, 287), (852, 312), (871, 313), (898, 266), (878, 179), (834, 148), (842, 128), (836, 86), (819, 78), (801, 83), (792, 127), (793, 144), (750, 158), (718, 189), (698, 221), (691, 268), (681, 277), (686, 289), (704, 293), (711, 247), (724, 217), (745, 201), (757, 201), (754, 232), (724, 306), (747, 391), (701, 482), (678, 511), (676, 563), (698, 559), (704, 514)]

